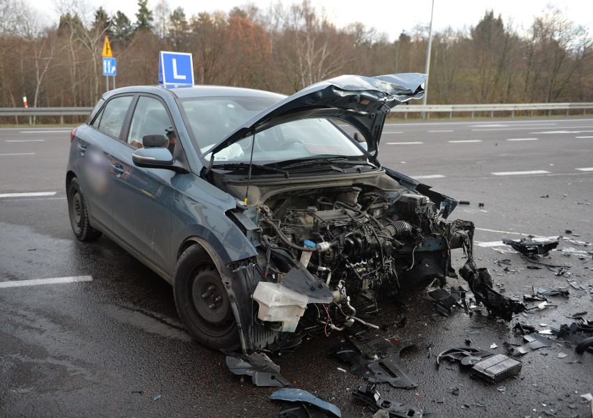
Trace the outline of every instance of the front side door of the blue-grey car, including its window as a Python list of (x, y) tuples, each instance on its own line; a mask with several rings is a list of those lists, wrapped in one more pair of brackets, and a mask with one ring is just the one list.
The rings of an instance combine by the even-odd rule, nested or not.
[(166, 274), (171, 266), (171, 205), (175, 172), (143, 169), (132, 162), (142, 137), (161, 134), (175, 147), (175, 129), (161, 100), (139, 96), (129, 129), (113, 152), (113, 232), (145, 261)]

